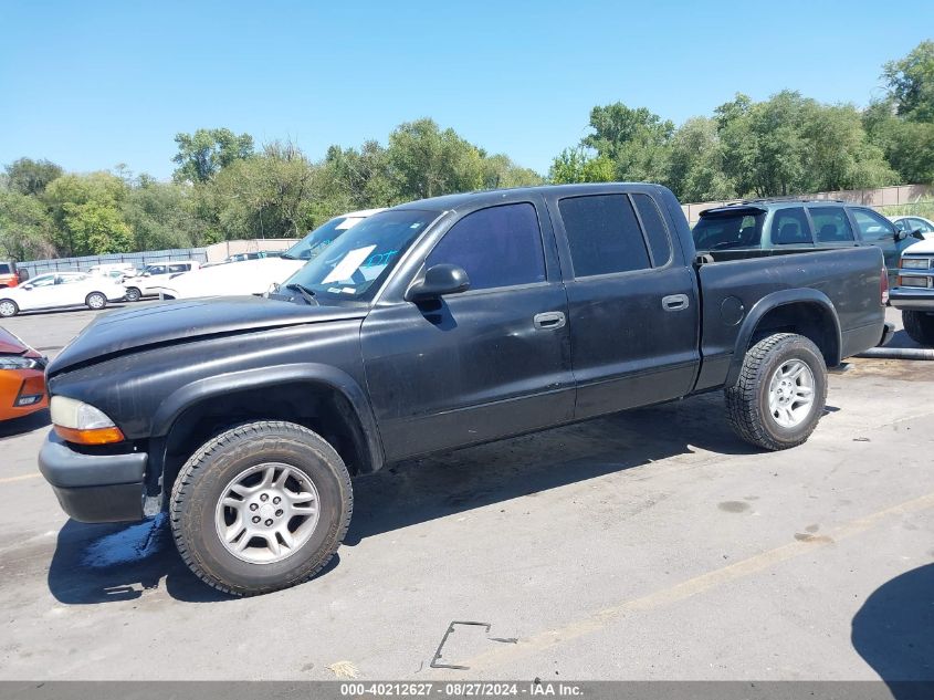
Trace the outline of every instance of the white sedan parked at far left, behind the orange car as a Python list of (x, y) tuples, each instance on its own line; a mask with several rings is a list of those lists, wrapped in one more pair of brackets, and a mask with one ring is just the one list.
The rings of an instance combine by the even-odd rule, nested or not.
[(48, 272), (19, 286), (0, 290), (0, 316), (15, 316), (21, 311), (87, 306), (97, 310), (107, 302), (123, 301), (122, 284), (102, 275), (83, 272)]

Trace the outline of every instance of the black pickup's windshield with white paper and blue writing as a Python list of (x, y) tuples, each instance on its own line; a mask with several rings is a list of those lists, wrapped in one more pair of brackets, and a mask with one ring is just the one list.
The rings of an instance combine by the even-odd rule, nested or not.
[(405, 210), (364, 219), (324, 254), (288, 278), (285, 285), (301, 284), (315, 294), (342, 299), (371, 299), (378, 283), (437, 216), (432, 211)]

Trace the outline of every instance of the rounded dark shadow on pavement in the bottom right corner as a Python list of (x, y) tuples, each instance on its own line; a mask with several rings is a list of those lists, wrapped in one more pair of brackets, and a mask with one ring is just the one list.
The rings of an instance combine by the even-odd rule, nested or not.
[[(894, 698), (921, 698), (922, 690), (934, 690), (934, 563), (877, 588), (852, 625), (853, 648)], [(921, 688), (898, 681), (928, 682)]]

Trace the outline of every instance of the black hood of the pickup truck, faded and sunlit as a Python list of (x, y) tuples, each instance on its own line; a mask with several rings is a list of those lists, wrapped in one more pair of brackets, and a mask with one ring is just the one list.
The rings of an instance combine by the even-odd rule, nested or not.
[(188, 343), (200, 337), (250, 333), (306, 323), (363, 318), (365, 307), (306, 306), (260, 296), (174, 301), (113, 311), (91, 323), (49, 366), (49, 374), (127, 351)]

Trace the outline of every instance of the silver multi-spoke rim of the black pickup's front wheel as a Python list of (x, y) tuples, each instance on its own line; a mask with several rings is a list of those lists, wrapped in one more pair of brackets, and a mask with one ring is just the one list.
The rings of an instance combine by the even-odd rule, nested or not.
[(318, 524), (318, 492), (308, 476), (283, 462), (251, 467), (221, 491), (214, 512), (224, 548), (250, 564), (292, 556)]

